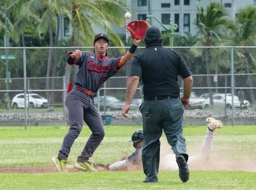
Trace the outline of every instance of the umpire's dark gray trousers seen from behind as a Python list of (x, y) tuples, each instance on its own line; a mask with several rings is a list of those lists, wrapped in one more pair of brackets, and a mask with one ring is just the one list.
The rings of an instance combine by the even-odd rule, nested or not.
[(145, 182), (157, 182), (160, 158), (160, 141), (162, 131), (166, 135), (176, 157), (186, 154), (186, 143), (183, 137), (184, 107), (179, 98), (143, 101), (140, 107), (143, 118), (144, 145), (142, 149), (143, 171)]

